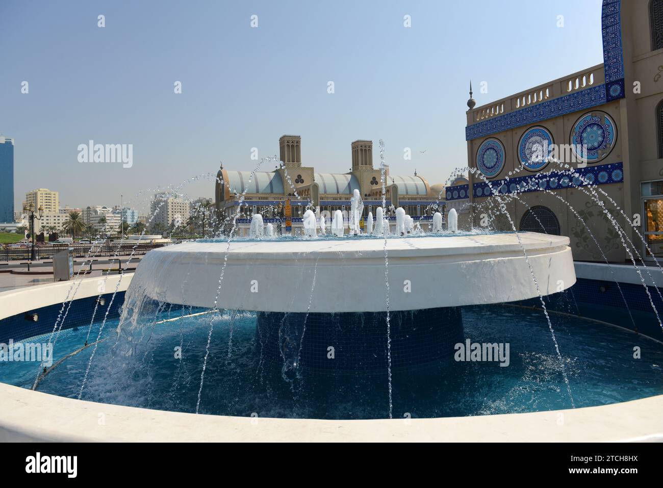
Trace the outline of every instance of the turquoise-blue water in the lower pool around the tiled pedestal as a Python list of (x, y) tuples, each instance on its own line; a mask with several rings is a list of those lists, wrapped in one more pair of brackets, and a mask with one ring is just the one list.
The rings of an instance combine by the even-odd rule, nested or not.
[[(117, 320), (107, 322), (91, 363), (84, 400), (194, 412), (208, 339), (210, 314), (172, 306), (118, 339)], [(571, 402), (540, 310), (515, 306), (462, 308), (463, 335), (472, 342), (508, 343), (509, 365), (499, 361), (444, 361), (392, 371), (394, 418), (468, 416), (570, 408)], [(663, 345), (619, 328), (552, 314), (552, 325), (575, 406), (595, 406), (663, 394)], [(385, 418), (387, 374), (282, 374), (262, 361), (256, 316), (231, 313), (213, 320), (200, 412), (288, 418)], [(96, 337), (99, 324), (93, 326)], [(80, 348), (88, 328), (66, 330), (54, 359)], [(30, 339), (47, 342), (48, 337)], [(182, 358), (176, 347), (182, 346)], [(230, 348), (229, 348), (230, 345)], [(385, 334), (386, 345), (386, 334)], [(639, 348), (639, 359), (634, 357)], [(38, 391), (78, 397), (93, 347), (69, 357), (46, 375)], [(39, 364), (1, 362), (0, 381), (29, 388)]]

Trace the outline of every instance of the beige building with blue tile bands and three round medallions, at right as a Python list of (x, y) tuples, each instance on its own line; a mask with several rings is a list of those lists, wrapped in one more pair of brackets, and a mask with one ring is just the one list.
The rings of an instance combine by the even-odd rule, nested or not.
[[(466, 183), (448, 186), (446, 200), (466, 194), (471, 221), (481, 225), (492, 198), (488, 182), (505, 196), (522, 192), (520, 201), (505, 198), (518, 229), (568, 235), (574, 259), (603, 261), (591, 231), (609, 261), (624, 262), (629, 257), (609, 215), (582, 191), (596, 185), (599, 200), (627, 229), (640, 254), (653, 259), (621, 212), (661, 257), (663, 0), (603, 0), (596, 15), (601, 16), (603, 63), (479, 107), (470, 91), (467, 164), (480, 176), (470, 174)], [(571, 161), (562, 162), (572, 164), (575, 174), (556, 173), (556, 162), (531, 158), (543, 143), (572, 147)], [(498, 225), (511, 229), (508, 219)]]

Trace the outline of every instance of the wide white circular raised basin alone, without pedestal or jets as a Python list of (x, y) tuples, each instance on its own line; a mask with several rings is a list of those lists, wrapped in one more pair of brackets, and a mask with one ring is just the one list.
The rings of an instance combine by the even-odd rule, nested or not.
[(208, 308), (385, 312), (385, 279), (389, 310), (422, 310), (561, 292), (575, 271), (568, 237), (533, 232), (194, 242), (150, 251), (131, 288)]

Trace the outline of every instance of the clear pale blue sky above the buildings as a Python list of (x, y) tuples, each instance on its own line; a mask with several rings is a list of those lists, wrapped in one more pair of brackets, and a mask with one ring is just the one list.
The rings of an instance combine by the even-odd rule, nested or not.
[[(2, 0), (0, 51), (17, 209), (34, 188), (58, 190), (62, 206), (110, 206), (121, 193), (139, 205), (140, 190), (219, 160), (251, 170), (252, 147), (277, 154), (293, 133), (316, 170), (347, 171), (355, 139), (373, 140), (377, 166), (382, 138), (392, 174), (416, 167), (434, 184), (467, 164), (469, 80), (482, 105), (601, 63), (601, 0)], [(78, 162), (89, 139), (133, 144), (133, 167)], [(186, 192), (211, 197), (213, 186)]]

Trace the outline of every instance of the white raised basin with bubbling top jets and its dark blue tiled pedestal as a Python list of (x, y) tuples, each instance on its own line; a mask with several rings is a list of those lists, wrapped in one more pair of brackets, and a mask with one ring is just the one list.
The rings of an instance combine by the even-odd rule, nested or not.
[[(453, 237), (410, 237), (412, 218), (402, 208), (396, 209), (396, 235), (384, 237), (378, 208), (376, 239), (359, 235), (355, 203), (345, 237), (341, 212), (335, 212), (332, 240), (316, 235), (315, 214), (306, 210), (306, 240), (193, 242), (155, 249), (127, 291), (122, 327), (135, 326), (147, 302), (241, 308), (257, 314), (265, 362), (281, 361), (288, 370), (376, 372), (450, 359), (463, 338), (461, 306), (526, 300), (575, 282), (567, 237), (457, 231)], [(450, 229), (452, 215), (453, 210)], [(440, 227), (440, 218), (434, 225)], [(252, 236), (263, 235), (261, 222), (260, 215), (253, 216)], [(188, 275), (196, 279), (180, 286)], [(391, 288), (388, 301), (380, 292), (366, 292), (385, 284)], [(480, 294), (466, 292), (478, 288)], [(389, 355), (381, 342), (386, 322), (392, 329)], [(335, 350), (334, 361), (328, 360), (328, 347)]]

